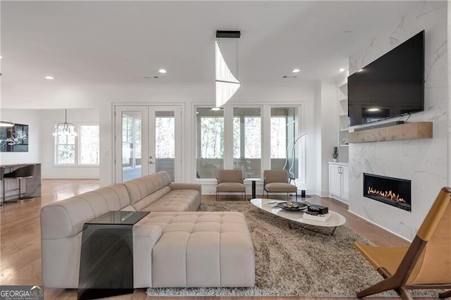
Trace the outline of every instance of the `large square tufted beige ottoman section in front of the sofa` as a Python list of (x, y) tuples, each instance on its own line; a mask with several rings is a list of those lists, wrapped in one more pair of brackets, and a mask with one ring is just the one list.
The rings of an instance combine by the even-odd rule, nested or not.
[(138, 225), (161, 227), (150, 287), (254, 286), (254, 247), (242, 213), (156, 212)]

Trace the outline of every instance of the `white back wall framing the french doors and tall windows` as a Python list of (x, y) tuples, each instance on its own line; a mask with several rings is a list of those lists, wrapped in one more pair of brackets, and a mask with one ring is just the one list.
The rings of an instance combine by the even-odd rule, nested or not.
[[(194, 177), (194, 104), (214, 106), (214, 82), (209, 85), (130, 85), (121, 87), (2, 87), (3, 108), (97, 108), (99, 110), (101, 186), (113, 183), (113, 104), (185, 104), (183, 111), (184, 182)], [(27, 103), (25, 104), (24, 101)], [(295, 82), (284, 86), (242, 85), (231, 104), (302, 104), (303, 132), (307, 132), (307, 190), (315, 190), (314, 85)]]

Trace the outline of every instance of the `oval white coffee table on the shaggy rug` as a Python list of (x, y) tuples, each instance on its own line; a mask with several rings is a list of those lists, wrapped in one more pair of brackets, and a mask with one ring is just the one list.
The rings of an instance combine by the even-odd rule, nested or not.
[(299, 224), (307, 224), (307, 225), (313, 225), (313, 226), (319, 226), (319, 227), (333, 227), (332, 232), (330, 235), (333, 235), (335, 230), (338, 226), (344, 225), (346, 223), (346, 218), (340, 215), (340, 213), (335, 213), (335, 211), (330, 211), (330, 218), (323, 221), (316, 221), (316, 220), (307, 220), (302, 218), (304, 215), (304, 211), (286, 211), (283, 208), (279, 207), (272, 207), (269, 206), (269, 202), (285, 202), (283, 200), (277, 200), (277, 199), (251, 199), (251, 203), (254, 206), (257, 206), (263, 211), (266, 211), (268, 213), (272, 213), (273, 215), (277, 215), (280, 218), (283, 218), (288, 221), (292, 221), (294, 223)]

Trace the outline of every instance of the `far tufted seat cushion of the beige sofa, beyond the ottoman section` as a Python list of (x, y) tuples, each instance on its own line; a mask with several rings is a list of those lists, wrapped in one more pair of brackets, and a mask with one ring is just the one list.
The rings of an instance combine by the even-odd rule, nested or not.
[[(142, 204), (144, 201), (137, 202)], [(137, 208), (135, 204), (135, 208)], [(200, 195), (197, 190), (175, 189), (159, 201), (153, 202), (149, 206), (140, 207), (139, 211), (197, 211), (200, 206)]]

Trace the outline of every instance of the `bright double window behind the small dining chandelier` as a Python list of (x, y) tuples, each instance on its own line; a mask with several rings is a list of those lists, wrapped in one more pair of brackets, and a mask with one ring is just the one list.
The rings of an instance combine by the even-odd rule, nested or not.
[(78, 137), (55, 137), (56, 165), (99, 165), (99, 126), (78, 126)]

